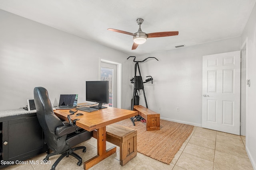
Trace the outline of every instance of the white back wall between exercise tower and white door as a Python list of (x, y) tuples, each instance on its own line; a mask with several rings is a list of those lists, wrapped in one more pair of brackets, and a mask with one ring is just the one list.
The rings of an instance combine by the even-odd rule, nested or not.
[[(146, 76), (154, 79), (153, 84), (144, 84), (148, 107), (162, 119), (202, 126), (202, 56), (239, 50), (237, 37), (138, 57), (159, 60), (140, 64), (143, 80)], [(143, 95), (140, 102), (144, 105)]]

